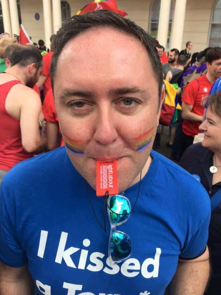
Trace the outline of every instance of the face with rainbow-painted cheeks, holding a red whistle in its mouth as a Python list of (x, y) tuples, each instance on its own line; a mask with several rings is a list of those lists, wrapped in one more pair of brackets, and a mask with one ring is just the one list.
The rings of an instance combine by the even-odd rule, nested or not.
[(96, 160), (116, 159), (124, 191), (145, 166), (158, 125), (158, 84), (146, 49), (112, 29), (84, 32), (60, 54), (54, 95), (75, 168), (95, 189)]

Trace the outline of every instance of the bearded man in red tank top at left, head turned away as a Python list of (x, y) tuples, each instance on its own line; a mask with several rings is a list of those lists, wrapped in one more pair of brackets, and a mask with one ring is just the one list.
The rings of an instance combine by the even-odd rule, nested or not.
[(0, 182), (15, 164), (45, 150), (38, 126), (41, 100), (31, 89), (41, 71), (39, 50), (22, 45), (14, 49), (10, 66), (0, 74)]

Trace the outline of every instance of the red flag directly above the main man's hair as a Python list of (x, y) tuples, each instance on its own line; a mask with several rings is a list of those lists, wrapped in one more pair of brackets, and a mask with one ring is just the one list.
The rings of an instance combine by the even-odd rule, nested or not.
[(79, 10), (76, 13), (76, 15), (85, 14), (86, 12), (89, 12), (89, 11), (95, 11), (95, 10), (101, 10), (101, 9), (114, 11), (120, 14), (122, 17), (127, 15), (126, 11), (118, 9), (116, 0), (95, 0), (94, 2), (88, 3), (86, 6), (84, 6), (81, 10)]

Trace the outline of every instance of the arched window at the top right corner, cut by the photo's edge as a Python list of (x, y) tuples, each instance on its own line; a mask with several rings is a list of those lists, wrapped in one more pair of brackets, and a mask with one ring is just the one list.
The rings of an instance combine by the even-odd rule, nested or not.
[(221, 0), (216, 0), (213, 7), (208, 46), (221, 46)]

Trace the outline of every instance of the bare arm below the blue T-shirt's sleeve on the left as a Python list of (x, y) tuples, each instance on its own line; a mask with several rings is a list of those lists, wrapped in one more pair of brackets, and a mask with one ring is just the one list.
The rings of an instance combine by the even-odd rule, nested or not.
[(10, 267), (0, 262), (1, 295), (33, 295), (34, 284), (27, 265)]

